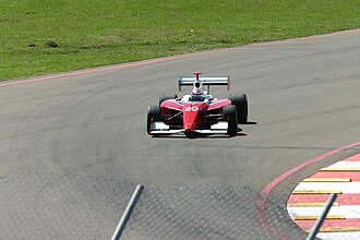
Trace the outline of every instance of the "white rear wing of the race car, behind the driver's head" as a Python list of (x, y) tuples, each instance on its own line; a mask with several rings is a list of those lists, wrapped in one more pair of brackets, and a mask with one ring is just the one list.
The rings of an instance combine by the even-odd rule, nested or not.
[(179, 76), (179, 92), (181, 86), (192, 86), (197, 80), (202, 82), (203, 86), (207, 86), (207, 92), (209, 92), (209, 86), (212, 85), (226, 85), (227, 89), (230, 89), (230, 76)]

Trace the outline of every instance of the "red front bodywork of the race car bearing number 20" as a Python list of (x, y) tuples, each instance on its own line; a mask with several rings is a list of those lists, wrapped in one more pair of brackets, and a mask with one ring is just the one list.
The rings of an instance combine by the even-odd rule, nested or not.
[(216, 99), (206, 101), (187, 101), (169, 99), (161, 103), (161, 117), (164, 123), (170, 129), (183, 129), (185, 131), (211, 129), (212, 124), (221, 118), (223, 108), (231, 105), (229, 99)]

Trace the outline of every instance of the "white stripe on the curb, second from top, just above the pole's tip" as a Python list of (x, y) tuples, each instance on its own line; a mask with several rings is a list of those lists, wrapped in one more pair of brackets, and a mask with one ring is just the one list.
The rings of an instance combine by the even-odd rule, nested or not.
[(340, 190), (341, 193), (360, 193), (360, 182), (301, 182), (293, 191)]

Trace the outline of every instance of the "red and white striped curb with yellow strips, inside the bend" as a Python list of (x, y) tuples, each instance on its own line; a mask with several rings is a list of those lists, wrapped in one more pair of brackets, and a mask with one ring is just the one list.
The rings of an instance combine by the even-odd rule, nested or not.
[(287, 202), (291, 219), (310, 231), (333, 192), (336, 202), (316, 237), (360, 239), (360, 154), (322, 168), (298, 184)]

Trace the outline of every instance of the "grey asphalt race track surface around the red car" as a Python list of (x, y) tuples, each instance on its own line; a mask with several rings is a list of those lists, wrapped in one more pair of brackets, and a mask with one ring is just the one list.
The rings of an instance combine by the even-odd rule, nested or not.
[[(272, 191), (265, 216), (281, 236), (256, 201), (283, 172), (359, 142), (359, 39), (353, 31), (0, 85), (0, 239), (110, 239), (137, 183), (145, 192), (123, 239), (303, 239), (288, 195), (359, 148)], [(250, 124), (236, 137), (148, 136), (147, 106), (194, 71), (231, 75)]]

